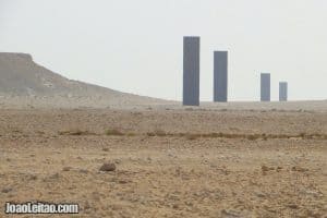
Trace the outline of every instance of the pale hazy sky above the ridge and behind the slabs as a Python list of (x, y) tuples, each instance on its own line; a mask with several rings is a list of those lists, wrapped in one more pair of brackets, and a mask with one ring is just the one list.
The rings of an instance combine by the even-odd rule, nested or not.
[(229, 51), (229, 97), (258, 100), (259, 73), (289, 98), (327, 98), (326, 0), (0, 0), (0, 51), (69, 78), (181, 100), (183, 36), (201, 36), (201, 100), (213, 52)]

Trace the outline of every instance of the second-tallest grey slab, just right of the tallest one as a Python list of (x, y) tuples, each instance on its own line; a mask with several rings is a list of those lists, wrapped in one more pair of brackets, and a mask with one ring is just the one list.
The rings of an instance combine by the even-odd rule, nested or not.
[(228, 99), (228, 51), (214, 52), (214, 101)]

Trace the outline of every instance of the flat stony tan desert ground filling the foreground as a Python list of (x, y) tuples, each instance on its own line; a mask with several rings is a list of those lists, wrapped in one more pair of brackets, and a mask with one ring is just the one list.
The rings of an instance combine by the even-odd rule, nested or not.
[(0, 213), (43, 201), (80, 204), (61, 217), (327, 217), (327, 112), (0, 113)]

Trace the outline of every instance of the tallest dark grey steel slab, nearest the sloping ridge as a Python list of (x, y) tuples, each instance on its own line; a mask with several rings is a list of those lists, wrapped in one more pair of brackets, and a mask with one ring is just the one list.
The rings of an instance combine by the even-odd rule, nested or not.
[(184, 37), (183, 105), (199, 106), (199, 37)]

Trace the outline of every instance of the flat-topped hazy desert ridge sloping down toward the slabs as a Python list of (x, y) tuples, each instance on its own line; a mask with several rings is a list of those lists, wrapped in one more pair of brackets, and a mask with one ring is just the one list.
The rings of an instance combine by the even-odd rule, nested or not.
[[(50, 70), (38, 65), (27, 53), (0, 52), (0, 96), (2, 97), (33, 97), (48, 98), (60, 97), (84, 100), (88, 99), (94, 104), (99, 101), (104, 105), (146, 105), (160, 104), (165, 100), (142, 97), (132, 94), (117, 92), (97, 85), (63, 77)], [(83, 106), (88, 104), (84, 102)]]

